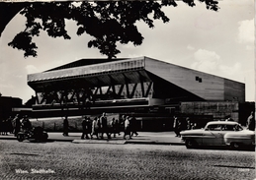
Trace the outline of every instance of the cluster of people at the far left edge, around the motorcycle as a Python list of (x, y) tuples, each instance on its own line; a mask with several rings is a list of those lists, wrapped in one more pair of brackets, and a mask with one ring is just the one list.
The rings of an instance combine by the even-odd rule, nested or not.
[(0, 122), (0, 133), (1, 135), (17, 134), (20, 131), (29, 131), (32, 129), (32, 124), (27, 115), (21, 116), (17, 114), (14, 118), (11, 116), (6, 120)]

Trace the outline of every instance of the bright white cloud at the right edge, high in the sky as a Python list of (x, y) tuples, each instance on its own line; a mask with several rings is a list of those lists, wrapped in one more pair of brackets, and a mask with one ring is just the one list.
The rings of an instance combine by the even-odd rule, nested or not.
[(254, 20), (245, 20), (238, 22), (237, 41), (240, 43), (254, 42)]

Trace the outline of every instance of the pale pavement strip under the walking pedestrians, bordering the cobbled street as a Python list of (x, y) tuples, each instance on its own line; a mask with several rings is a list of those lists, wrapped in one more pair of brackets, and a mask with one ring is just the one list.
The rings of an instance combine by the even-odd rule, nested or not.
[[(62, 133), (47, 133), (48, 142), (72, 142), (74, 144), (148, 144), (148, 145), (185, 145), (181, 138), (175, 137), (174, 132), (138, 132), (138, 135), (132, 139), (124, 140), (124, 133), (117, 135), (116, 138), (108, 140), (106, 134), (103, 140), (97, 140), (96, 137), (89, 140), (81, 140), (82, 133), (69, 133), (69, 136), (63, 136)], [(128, 136), (127, 136), (128, 138)], [(17, 140), (13, 134), (0, 135), (0, 140)]]

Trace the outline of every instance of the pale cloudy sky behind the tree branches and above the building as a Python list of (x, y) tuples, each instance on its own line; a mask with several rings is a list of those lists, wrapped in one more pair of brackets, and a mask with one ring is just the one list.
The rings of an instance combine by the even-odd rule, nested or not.
[[(196, 7), (178, 2), (164, 8), (170, 22), (154, 21), (149, 29), (137, 22), (144, 40), (141, 45), (118, 44), (122, 57), (147, 56), (164, 62), (213, 74), (245, 84), (246, 101), (255, 101), (254, 1), (220, 0), (217, 12), (196, 1)], [(0, 37), (0, 92), (20, 97), (23, 103), (36, 95), (27, 84), (28, 74), (73, 62), (82, 58), (107, 58), (96, 48), (88, 48), (92, 38), (76, 35), (74, 22), (66, 21), (70, 40), (48, 37), (42, 31), (34, 40), (38, 56), (24, 58), (24, 52), (7, 44), (25, 30), (26, 19), (17, 15)]]

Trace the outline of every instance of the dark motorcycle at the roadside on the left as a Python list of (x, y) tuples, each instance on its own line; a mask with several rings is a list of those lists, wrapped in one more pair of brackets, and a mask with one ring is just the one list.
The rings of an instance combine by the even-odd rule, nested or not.
[(23, 130), (17, 134), (17, 140), (23, 142), (24, 140), (34, 139), (35, 141), (46, 142), (48, 134), (43, 131), (42, 127), (35, 127), (31, 130)]

